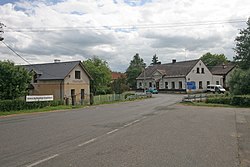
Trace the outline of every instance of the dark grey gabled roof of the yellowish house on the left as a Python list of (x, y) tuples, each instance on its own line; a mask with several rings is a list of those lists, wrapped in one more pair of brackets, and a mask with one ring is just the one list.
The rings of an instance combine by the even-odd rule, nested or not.
[(81, 61), (30, 64), (24, 65), (23, 67), (28, 71), (34, 71), (39, 74), (38, 80), (63, 80), (77, 65), (80, 65), (91, 79), (91, 76), (86, 71)]

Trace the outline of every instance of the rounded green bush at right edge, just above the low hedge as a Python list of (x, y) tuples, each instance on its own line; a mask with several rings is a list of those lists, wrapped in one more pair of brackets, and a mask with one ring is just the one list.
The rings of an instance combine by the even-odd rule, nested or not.
[(236, 69), (228, 84), (229, 90), (232, 94), (250, 94), (250, 69)]

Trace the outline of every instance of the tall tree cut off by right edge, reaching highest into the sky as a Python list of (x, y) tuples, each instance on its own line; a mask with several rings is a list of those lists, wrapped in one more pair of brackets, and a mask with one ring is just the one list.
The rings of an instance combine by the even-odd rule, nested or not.
[(250, 17), (247, 21), (247, 28), (241, 29), (239, 35), (235, 38), (236, 46), (234, 51), (236, 56), (234, 60), (242, 69), (250, 68)]

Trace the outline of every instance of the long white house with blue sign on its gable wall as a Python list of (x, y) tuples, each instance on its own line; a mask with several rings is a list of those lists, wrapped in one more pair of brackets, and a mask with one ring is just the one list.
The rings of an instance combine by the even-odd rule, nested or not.
[(209, 84), (221, 84), (222, 77), (212, 75), (198, 59), (182, 62), (172, 60), (172, 63), (148, 66), (136, 80), (138, 89), (202, 92)]

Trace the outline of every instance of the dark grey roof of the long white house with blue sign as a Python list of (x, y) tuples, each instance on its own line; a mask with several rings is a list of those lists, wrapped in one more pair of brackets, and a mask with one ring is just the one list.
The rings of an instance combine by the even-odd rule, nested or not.
[[(156, 70), (160, 71), (161, 74), (164, 72), (166, 77), (184, 77), (192, 70), (198, 61), (199, 59), (148, 66), (145, 69), (145, 78), (151, 78)], [(143, 78), (144, 72), (142, 72), (137, 79)]]

